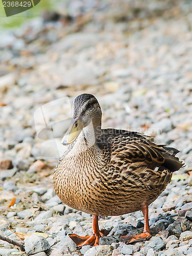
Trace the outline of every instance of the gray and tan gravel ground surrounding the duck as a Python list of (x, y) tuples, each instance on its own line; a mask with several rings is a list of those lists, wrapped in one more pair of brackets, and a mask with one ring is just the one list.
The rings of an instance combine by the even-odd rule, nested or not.
[[(9, 223), (18, 233), (47, 234), (26, 237), (26, 253), (36, 256), (192, 255), (191, 11), (190, 1), (71, 1), (56, 18), (44, 13), (3, 35), (0, 234), (19, 240)], [(180, 150), (186, 167), (150, 205), (149, 241), (120, 239), (142, 232), (141, 211), (101, 217), (99, 227), (110, 233), (97, 247), (76, 250), (67, 236), (92, 226), (52, 185), (72, 99), (84, 92), (98, 98), (103, 127), (139, 131)], [(0, 241), (2, 256), (26, 253)]]

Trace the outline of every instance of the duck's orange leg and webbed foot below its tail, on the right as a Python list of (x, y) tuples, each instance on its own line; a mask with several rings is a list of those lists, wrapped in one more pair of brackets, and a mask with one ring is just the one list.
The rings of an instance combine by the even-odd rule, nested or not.
[(150, 226), (148, 225), (148, 205), (146, 202), (141, 205), (141, 210), (144, 216), (143, 232), (141, 234), (137, 234), (136, 236), (122, 236), (121, 238), (125, 242), (132, 243), (137, 241), (144, 241), (152, 237), (150, 233)]

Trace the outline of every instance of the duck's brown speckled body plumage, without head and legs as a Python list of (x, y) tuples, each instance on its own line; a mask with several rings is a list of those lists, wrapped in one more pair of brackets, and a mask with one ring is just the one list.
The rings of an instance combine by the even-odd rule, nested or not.
[(102, 129), (92, 146), (83, 135), (68, 146), (56, 166), (54, 188), (72, 208), (92, 215), (127, 214), (161, 194), (183, 165), (177, 153), (136, 132)]

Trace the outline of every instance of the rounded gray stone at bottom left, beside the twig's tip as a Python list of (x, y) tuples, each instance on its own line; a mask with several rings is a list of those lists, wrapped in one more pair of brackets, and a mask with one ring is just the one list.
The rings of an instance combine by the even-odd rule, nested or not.
[(42, 251), (48, 251), (50, 245), (48, 241), (42, 236), (33, 234), (25, 239), (25, 250), (31, 255)]

